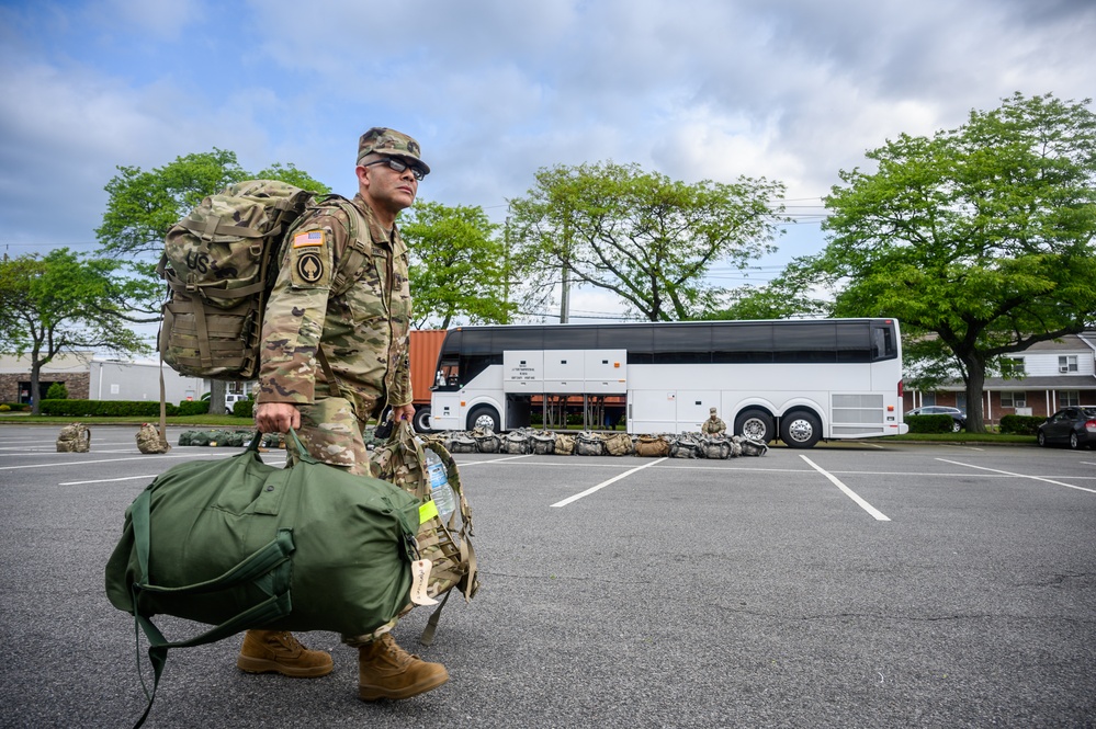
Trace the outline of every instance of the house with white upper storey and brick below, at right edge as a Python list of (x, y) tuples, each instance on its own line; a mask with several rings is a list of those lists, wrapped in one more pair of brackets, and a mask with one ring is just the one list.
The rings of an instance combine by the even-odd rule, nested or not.
[[(982, 390), (985, 424), (996, 424), (1003, 415), (1046, 418), (1069, 406), (1096, 406), (1096, 330), (1037, 342), (1012, 360), (1024, 375), (986, 377)], [(905, 410), (938, 405), (965, 412), (967, 394), (961, 380), (931, 392), (907, 388), (903, 405)]]

